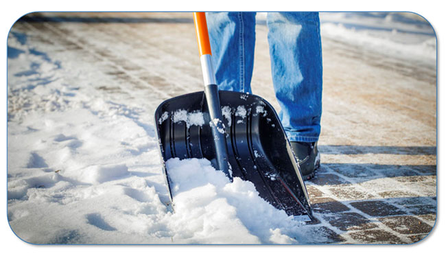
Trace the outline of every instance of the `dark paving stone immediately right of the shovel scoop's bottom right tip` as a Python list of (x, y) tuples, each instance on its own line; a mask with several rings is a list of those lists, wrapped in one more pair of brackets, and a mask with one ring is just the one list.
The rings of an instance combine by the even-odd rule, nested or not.
[(373, 229), (377, 227), (376, 224), (373, 224), (358, 213), (338, 213), (336, 215), (324, 216), (324, 219), (342, 231)]

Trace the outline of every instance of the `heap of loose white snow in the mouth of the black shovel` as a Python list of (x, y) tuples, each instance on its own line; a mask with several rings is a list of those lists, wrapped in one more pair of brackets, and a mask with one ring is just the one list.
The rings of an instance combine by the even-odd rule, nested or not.
[[(296, 232), (303, 223), (260, 198), (253, 183), (237, 177), (231, 183), (207, 159), (169, 159), (166, 165), (174, 196), (172, 220), (178, 224), (175, 229), (180, 234), (192, 235), (191, 242), (289, 244), (307, 241)], [(290, 233), (284, 234), (284, 231)], [(177, 237), (185, 238), (180, 234), (173, 237), (174, 241)]]

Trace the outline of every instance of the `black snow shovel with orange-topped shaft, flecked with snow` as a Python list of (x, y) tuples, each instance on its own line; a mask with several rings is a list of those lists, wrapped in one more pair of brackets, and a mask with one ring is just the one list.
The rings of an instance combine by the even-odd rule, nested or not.
[(263, 98), (218, 91), (204, 12), (193, 14), (204, 91), (165, 100), (155, 111), (163, 174), (172, 202), (171, 158), (209, 159), (232, 181), (254, 183), (259, 196), (289, 216), (314, 220), (307, 189), (274, 108)]

